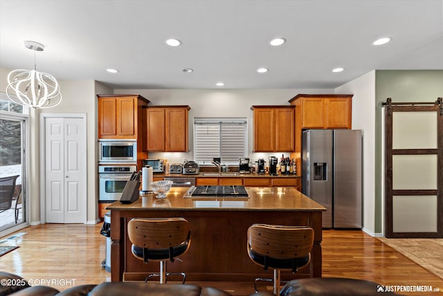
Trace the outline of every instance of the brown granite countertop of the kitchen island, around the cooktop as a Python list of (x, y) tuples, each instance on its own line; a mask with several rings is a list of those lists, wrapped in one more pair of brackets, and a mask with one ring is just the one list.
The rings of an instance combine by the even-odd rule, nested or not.
[(325, 211), (295, 187), (246, 187), (249, 198), (183, 198), (189, 187), (172, 187), (164, 199), (140, 195), (132, 204), (117, 201), (106, 209), (120, 211)]

